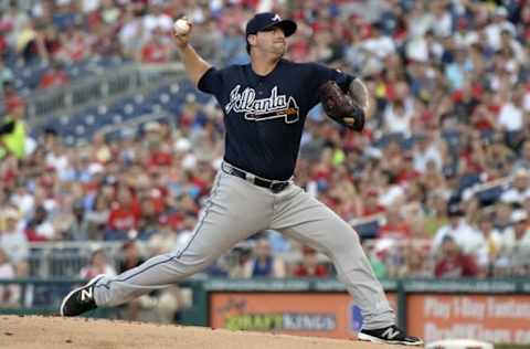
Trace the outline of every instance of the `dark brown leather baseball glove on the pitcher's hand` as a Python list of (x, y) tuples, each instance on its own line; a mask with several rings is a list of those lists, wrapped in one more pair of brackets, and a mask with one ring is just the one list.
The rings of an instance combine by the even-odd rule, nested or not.
[[(326, 114), (342, 126), (361, 131), (364, 127), (364, 112), (353, 98), (343, 93), (335, 81), (328, 81), (318, 88), (320, 103)], [(353, 124), (344, 121), (353, 118)]]

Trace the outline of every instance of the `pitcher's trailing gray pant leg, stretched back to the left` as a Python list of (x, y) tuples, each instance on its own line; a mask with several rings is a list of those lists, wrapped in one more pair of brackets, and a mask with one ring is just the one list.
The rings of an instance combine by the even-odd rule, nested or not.
[[(250, 187), (248, 187), (250, 186)], [(174, 253), (159, 255), (95, 286), (97, 306), (115, 306), (190, 276), (239, 241), (266, 229), (272, 201), (239, 178), (220, 173), (190, 241)]]

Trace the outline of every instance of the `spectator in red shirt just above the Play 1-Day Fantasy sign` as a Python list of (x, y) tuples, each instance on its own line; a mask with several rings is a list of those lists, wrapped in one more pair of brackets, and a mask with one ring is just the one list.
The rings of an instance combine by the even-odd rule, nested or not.
[(460, 252), (451, 235), (445, 235), (442, 247), (442, 257), (436, 263), (434, 276), (436, 277), (463, 277), (478, 276), (478, 267), (475, 258)]

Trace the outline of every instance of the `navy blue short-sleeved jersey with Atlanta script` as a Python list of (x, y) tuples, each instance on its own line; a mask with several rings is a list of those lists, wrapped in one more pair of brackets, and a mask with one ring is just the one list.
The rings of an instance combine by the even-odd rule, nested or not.
[(306, 115), (319, 103), (318, 87), (332, 80), (346, 89), (352, 78), (317, 63), (280, 60), (266, 76), (255, 74), (251, 64), (212, 67), (198, 87), (223, 108), (224, 159), (259, 177), (287, 180), (295, 171)]

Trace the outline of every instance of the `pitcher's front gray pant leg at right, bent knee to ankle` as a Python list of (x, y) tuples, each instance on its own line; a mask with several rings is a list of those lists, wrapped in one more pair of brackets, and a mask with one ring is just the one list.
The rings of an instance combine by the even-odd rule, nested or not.
[(395, 315), (373, 274), (357, 232), (300, 188), (293, 190), (296, 192), (276, 204), (272, 229), (314, 246), (331, 258), (339, 279), (362, 310), (364, 328), (395, 324)]

